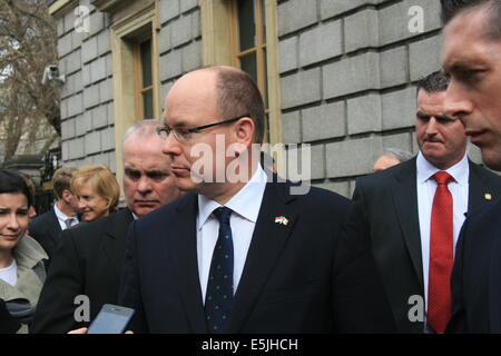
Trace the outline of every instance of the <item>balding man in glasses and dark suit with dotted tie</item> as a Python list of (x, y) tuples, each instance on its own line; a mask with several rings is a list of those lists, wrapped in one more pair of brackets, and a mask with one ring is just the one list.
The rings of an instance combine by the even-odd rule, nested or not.
[(164, 152), (189, 194), (129, 229), (120, 289), (137, 312), (132, 330), (331, 332), (332, 265), (350, 201), (266, 176), (263, 99), (243, 71), (191, 71), (165, 108)]

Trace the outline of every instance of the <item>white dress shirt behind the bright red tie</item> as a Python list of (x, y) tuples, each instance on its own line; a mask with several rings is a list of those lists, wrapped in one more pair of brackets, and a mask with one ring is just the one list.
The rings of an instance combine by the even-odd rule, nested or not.
[[(431, 165), (424, 156), (420, 152), (416, 160), (418, 169), (418, 210), (420, 217), (420, 233), (421, 233), (421, 251), (423, 258), (423, 278), (424, 278), (424, 301), (428, 312), (428, 283), (430, 270), (430, 225), (431, 212), (433, 206), (433, 197), (435, 196), (436, 181), (433, 175), (440, 171), (439, 168)], [(469, 177), (470, 165), (468, 157), (464, 155), (463, 159), (445, 170), (454, 178), (448, 186), (453, 199), (453, 239), (454, 251), (455, 244), (464, 222), (464, 214), (468, 211), (469, 197)]]

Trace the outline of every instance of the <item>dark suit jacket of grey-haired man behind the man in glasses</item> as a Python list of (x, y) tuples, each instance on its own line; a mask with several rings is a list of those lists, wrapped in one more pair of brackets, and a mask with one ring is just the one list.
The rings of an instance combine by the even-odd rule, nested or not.
[(40, 294), (31, 333), (67, 333), (77, 323), (75, 297), (90, 299), (90, 320), (106, 303), (117, 304), (130, 210), (61, 233), (61, 241)]

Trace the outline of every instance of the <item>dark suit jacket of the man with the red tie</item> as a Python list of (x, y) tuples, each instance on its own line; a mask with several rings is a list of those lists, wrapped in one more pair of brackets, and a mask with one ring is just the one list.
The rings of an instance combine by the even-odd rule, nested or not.
[[(424, 294), (415, 165), (414, 158), (357, 179), (336, 263), (338, 330), (424, 330), (409, 319), (409, 298)], [(472, 162), (469, 185), (468, 211), (488, 202), (487, 192), (501, 195), (501, 177)]]

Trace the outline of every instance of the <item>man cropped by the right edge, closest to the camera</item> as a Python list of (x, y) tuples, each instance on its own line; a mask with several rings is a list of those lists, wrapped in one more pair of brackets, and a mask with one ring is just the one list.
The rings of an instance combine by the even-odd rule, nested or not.
[[(445, 109), (501, 170), (501, 1), (442, 0)], [(469, 216), (458, 243), (449, 332), (501, 333), (501, 202)]]

